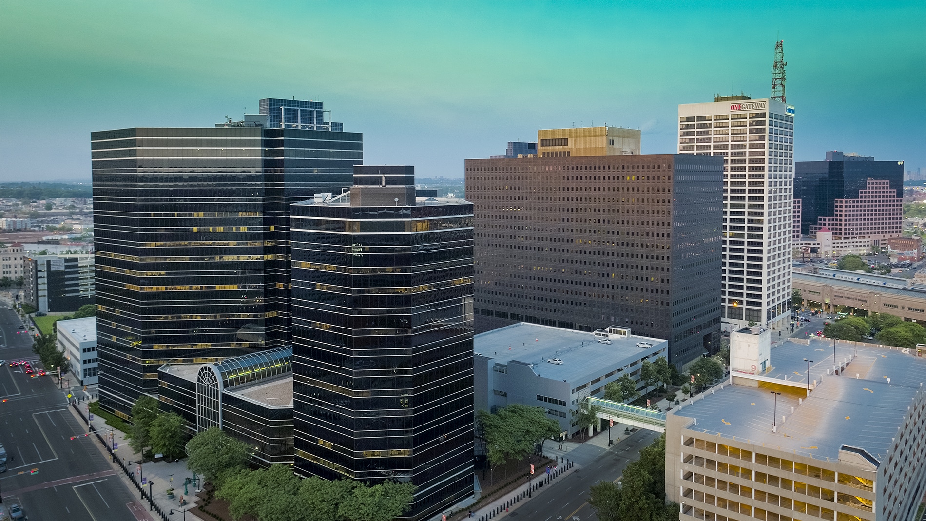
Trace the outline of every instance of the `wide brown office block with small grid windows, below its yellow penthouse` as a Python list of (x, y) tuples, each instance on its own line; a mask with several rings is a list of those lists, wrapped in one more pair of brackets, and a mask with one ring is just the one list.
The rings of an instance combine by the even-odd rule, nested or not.
[(468, 159), (477, 332), (518, 321), (719, 347), (722, 158)]

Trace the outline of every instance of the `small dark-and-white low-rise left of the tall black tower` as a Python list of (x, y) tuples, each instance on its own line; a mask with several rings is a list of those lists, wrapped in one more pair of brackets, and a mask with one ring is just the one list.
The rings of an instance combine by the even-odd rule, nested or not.
[(73, 312), (94, 304), (93, 254), (26, 255), (25, 302), (40, 313)]

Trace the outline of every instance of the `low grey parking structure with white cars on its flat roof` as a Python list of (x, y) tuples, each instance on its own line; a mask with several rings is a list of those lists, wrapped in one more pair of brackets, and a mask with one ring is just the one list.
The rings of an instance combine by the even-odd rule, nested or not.
[(605, 385), (630, 375), (643, 393), (644, 360), (666, 358), (669, 342), (611, 326), (594, 333), (519, 322), (473, 338), (476, 410), (512, 403), (543, 407), (563, 435), (573, 426), (570, 412), (586, 397), (602, 398)]

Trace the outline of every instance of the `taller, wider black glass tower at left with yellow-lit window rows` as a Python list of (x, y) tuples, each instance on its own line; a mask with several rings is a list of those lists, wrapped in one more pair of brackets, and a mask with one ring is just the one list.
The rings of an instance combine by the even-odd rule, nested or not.
[(134, 128), (91, 135), (100, 402), (157, 367), (290, 341), (289, 205), (349, 186), (362, 134)]

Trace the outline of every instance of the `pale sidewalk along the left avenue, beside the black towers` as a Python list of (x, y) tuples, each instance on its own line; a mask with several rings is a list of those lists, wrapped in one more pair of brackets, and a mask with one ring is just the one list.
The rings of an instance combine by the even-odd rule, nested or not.
[[(65, 378), (70, 378), (70, 389), (71, 394), (73, 395), (73, 400), (79, 401), (77, 407), (80, 410), (80, 413), (74, 411), (73, 406), (70, 407), (70, 410), (74, 413), (75, 416), (78, 416), (81, 425), (86, 426), (87, 421), (86, 417), (88, 415), (88, 404), (91, 397), (94, 397), (96, 394), (95, 385), (87, 386), (87, 391), (83, 391), (83, 388), (80, 384), (74, 379), (71, 375), (66, 375)], [(82, 417), (81, 417), (82, 416)], [(133, 494), (138, 494), (141, 498), (141, 502), (145, 506), (145, 511), (150, 509), (150, 501), (148, 499), (148, 493), (150, 491), (151, 497), (154, 500), (156, 506), (159, 507), (161, 515), (158, 512), (146, 512), (147, 515), (150, 515), (151, 519), (156, 518), (166, 519), (166, 520), (176, 520), (182, 519), (185, 511), (194, 508), (196, 498), (196, 492), (199, 490), (196, 488), (195, 484), (202, 484), (201, 477), (194, 477), (194, 475), (187, 471), (186, 464), (183, 461), (176, 461), (168, 463), (166, 461), (155, 461), (155, 462), (145, 462), (139, 465), (139, 454), (132, 452), (129, 447), (129, 440), (126, 440), (125, 434), (116, 428), (111, 428), (106, 425), (106, 420), (99, 416), (94, 416), (90, 420), (90, 424), (94, 427), (94, 430), (100, 434), (103, 440), (106, 441), (106, 446), (109, 448), (114, 447), (115, 442), (115, 451), (112, 453), (112, 456), (115, 456), (119, 459), (122, 464), (122, 467), (128, 469), (132, 474), (133, 478), (131, 479), (123, 472), (123, 469), (116, 463), (110, 463), (114, 469), (119, 472), (119, 478), (125, 480), (129, 486), (129, 490)], [(94, 436), (94, 440), (99, 441)], [(108, 451), (100, 446), (100, 450), (105, 454), (109, 455)], [(111, 457), (112, 457), (111, 456)], [(139, 466), (141, 468), (139, 469)], [(136, 486), (136, 483), (141, 483), (144, 478), (144, 492), (141, 494)], [(189, 484), (184, 484), (185, 480), (190, 478)], [(197, 480), (198, 479), (198, 480)], [(173, 489), (173, 497), (169, 498), (167, 490)], [(185, 500), (186, 504), (180, 504), (181, 497)], [(171, 515), (171, 511), (173, 515)], [(192, 519), (196, 519), (198, 516), (194, 515), (193, 512), (190, 513)]]

